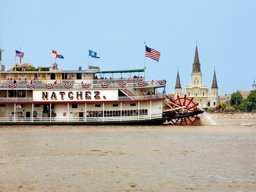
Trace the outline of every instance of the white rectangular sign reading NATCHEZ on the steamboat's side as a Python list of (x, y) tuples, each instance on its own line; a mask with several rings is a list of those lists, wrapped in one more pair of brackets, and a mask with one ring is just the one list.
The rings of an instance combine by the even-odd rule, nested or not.
[(33, 91), (33, 101), (114, 101), (118, 100), (118, 90), (47, 90)]

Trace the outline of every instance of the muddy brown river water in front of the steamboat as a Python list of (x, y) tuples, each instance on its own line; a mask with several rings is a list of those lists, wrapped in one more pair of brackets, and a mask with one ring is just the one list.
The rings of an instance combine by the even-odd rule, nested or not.
[(0, 191), (256, 191), (256, 119), (214, 122), (0, 126)]

